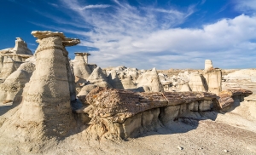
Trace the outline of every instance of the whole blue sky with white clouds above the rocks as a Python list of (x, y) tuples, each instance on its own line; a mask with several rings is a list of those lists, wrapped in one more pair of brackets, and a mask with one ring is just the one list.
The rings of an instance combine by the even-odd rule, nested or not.
[(256, 0), (0, 0), (0, 49), (58, 31), (89, 63), (139, 69), (256, 67)]

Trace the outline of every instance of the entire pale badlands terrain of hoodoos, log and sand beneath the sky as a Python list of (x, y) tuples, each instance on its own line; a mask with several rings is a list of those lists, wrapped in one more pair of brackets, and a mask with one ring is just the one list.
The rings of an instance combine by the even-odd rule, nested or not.
[(32, 35), (0, 50), (0, 154), (256, 153), (255, 69), (102, 69)]

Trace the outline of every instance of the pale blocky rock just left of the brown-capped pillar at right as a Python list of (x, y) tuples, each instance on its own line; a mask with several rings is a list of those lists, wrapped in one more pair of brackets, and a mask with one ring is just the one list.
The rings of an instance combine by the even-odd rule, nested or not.
[(190, 74), (189, 87), (192, 89), (192, 91), (207, 91), (205, 79), (199, 73)]

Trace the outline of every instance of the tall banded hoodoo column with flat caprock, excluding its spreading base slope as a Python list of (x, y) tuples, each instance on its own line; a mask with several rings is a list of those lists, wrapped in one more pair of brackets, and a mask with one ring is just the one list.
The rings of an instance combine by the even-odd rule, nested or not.
[(66, 38), (60, 32), (32, 35), (38, 37), (37, 65), (23, 92), (20, 118), (42, 123), (44, 135), (67, 135), (73, 126), (73, 116), (65, 45), (75, 45), (79, 40)]

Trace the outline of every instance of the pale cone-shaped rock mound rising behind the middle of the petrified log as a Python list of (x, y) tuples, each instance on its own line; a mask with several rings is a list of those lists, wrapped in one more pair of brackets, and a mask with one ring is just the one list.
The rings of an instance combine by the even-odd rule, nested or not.
[(160, 83), (158, 72), (155, 68), (150, 72), (145, 72), (139, 78), (137, 78), (137, 88), (148, 86), (151, 92), (163, 92), (164, 88)]

